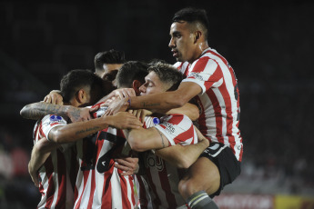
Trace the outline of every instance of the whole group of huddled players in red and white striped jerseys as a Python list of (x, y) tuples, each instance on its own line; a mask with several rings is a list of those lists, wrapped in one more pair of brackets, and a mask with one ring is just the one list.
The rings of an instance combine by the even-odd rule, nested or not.
[(101, 52), (95, 72), (70, 71), (21, 110), (37, 120), (38, 208), (218, 208), (240, 174), (238, 80), (208, 46), (205, 10), (179, 10), (170, 37), (175, 65)]

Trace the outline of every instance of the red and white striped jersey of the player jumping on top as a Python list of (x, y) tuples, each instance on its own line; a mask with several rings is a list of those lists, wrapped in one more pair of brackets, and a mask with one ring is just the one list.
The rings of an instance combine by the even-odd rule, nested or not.
[(182, 82), (193, 82), (202, 88), (197, 95), (201, 114), (198, 128), (210, 142), (228, 145), (242, 160), (243, 144), (239, 124), (239, 92), (236, 75), (228, 61), (214, 49), (208, 48), (191, 65), (175, 66), (187, 76)]

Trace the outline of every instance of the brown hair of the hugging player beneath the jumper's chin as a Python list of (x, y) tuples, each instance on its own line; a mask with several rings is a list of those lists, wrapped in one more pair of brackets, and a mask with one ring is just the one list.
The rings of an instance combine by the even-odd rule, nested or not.
[(164, 63), (149, 66), (148, 72), (155, 72), (162, 83), (170, 85), (171, 87), (167, 91), (177, 90), (183, 79), (183, 75), (176, 67)]

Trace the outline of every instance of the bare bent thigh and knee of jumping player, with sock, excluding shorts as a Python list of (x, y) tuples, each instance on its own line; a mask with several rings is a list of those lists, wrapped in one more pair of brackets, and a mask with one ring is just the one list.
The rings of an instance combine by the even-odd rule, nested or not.
[(178, 189), (192, 209), (218, 208), (208, 194), (216, 193), (219, 185), (220, 174), (217, 165), (206, 157), (200, 157), (188, 169), (187, 175), (180, 181)]

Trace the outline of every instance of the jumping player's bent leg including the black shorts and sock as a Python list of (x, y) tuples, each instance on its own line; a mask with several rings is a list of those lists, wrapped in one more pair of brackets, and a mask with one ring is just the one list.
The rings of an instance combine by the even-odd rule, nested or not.
[(240, 163), (232, 150), (224, 144), (211, 143), (187, 170), (178, 189), (192, 209), (218, 208), (211, 198), (220, 194), (240, 172)]

